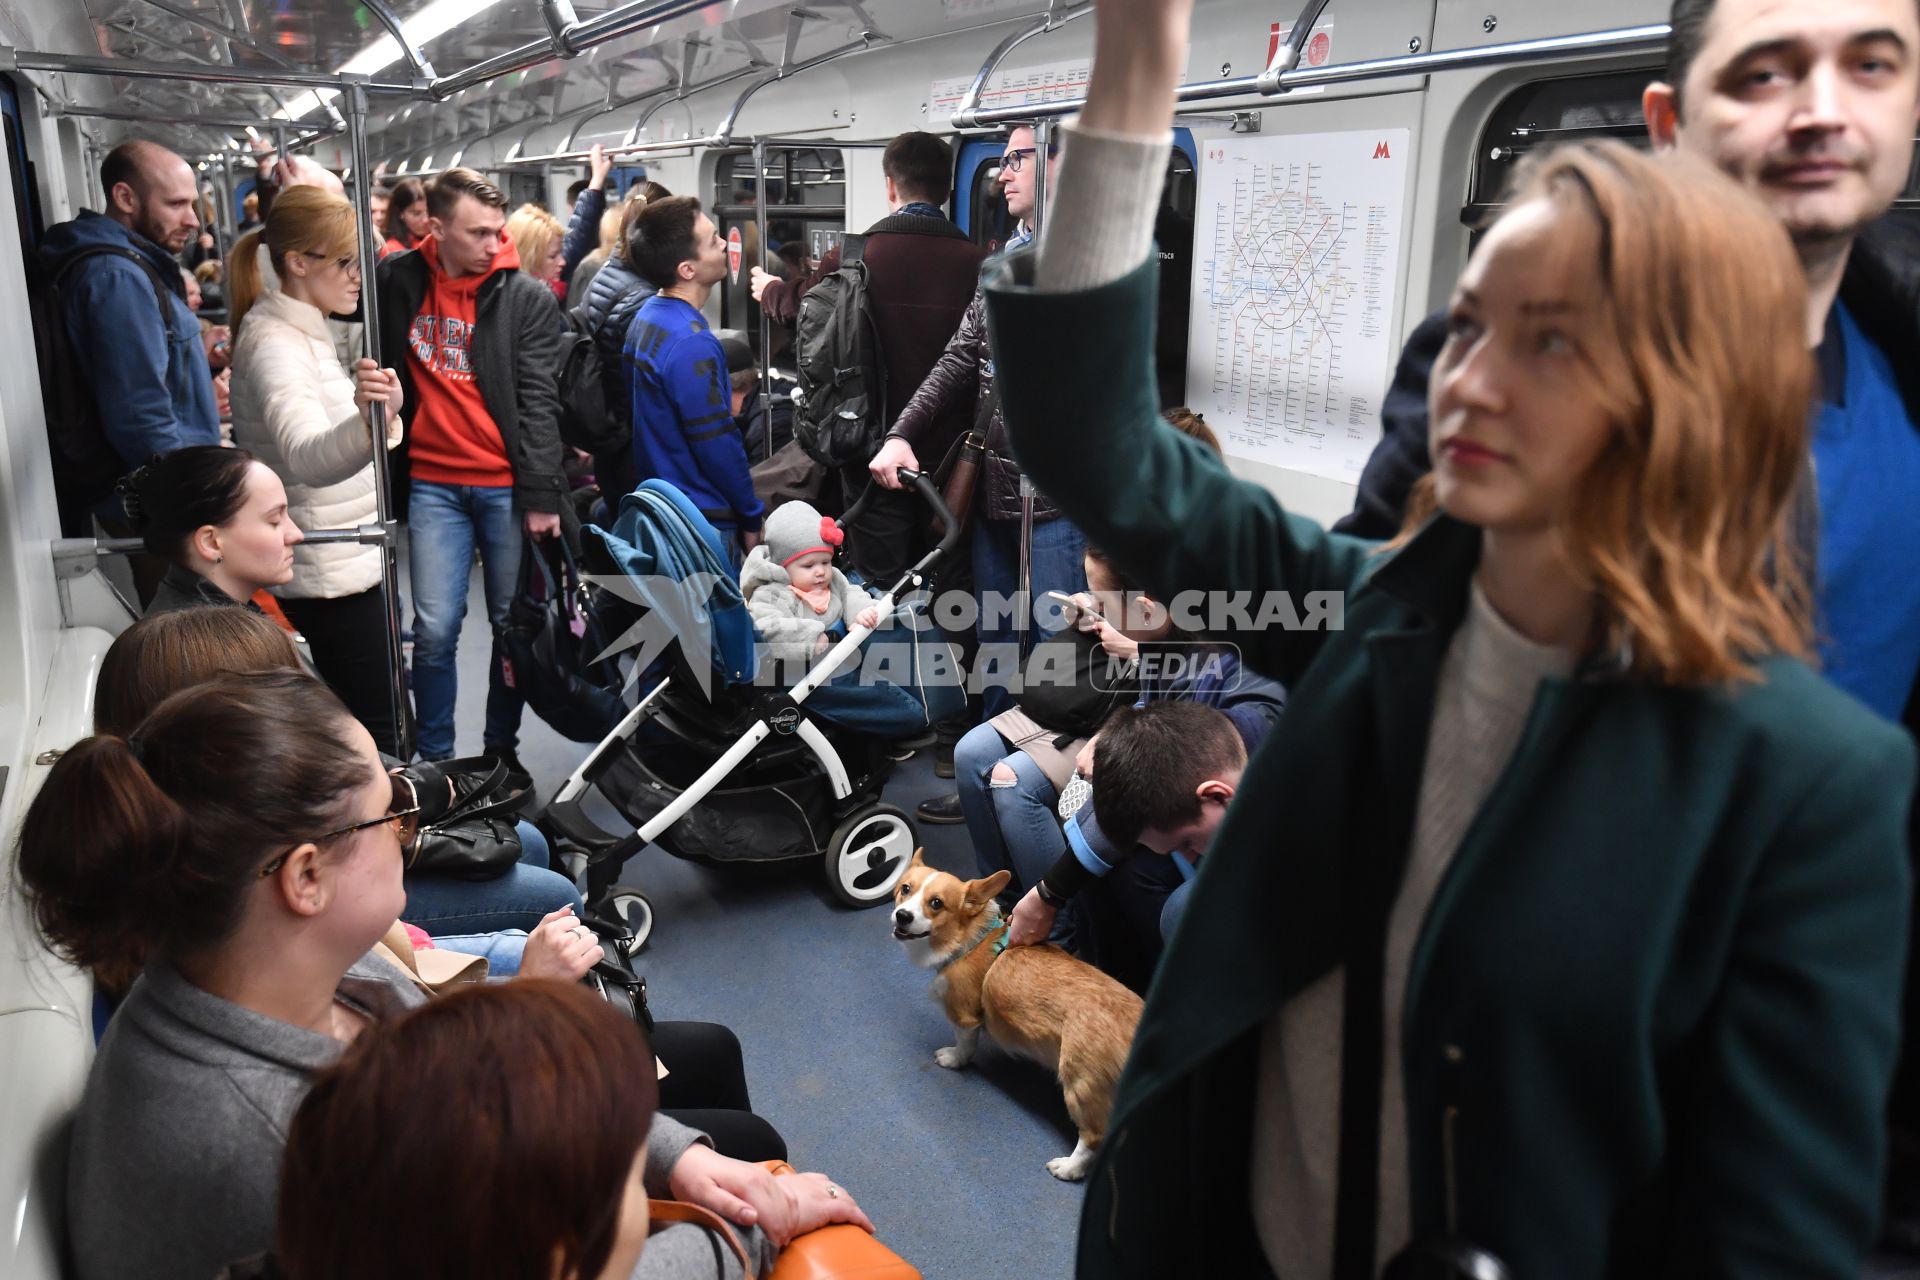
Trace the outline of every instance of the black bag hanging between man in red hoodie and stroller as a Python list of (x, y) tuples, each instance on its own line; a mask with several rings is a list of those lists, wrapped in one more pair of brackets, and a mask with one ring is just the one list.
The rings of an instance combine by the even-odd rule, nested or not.
[(620, 664), (603, 658), (607, 635), (564, 537), (526, 539), (499, 649), (507, 687), (563, 737), (597, 743), (626, 714)]

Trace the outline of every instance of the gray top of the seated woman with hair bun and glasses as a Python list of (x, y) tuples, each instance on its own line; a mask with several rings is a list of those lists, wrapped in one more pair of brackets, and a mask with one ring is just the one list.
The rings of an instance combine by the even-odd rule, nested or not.
[[(424, 996), (399, 969), (367, 956), (348, 969), (340, 1000), (378, 1019)], [(286, 1130), (313, 1073), (342, 1048), (152, 965), (108, 1025), (73, 1125), (67, 1238), (79, 1280), (211, 1280), (265, 1251)], [(655, 1117), (653, 1196), (668, 1196), (674, 1161), (703, 1138)], [(764, 1234), (735, 1232), (756, 1270), (772, 1265)], [(739, 1263), (703, 1228), (672, 1226), (647, 1242), (634, 1276), (732, 1280)]]

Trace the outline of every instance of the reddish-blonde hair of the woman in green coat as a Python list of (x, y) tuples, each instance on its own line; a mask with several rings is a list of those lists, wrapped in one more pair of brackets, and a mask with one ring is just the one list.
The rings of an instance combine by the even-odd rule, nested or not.
[[(1716, 169), (1584, 142), (1530, 155), (1513, 205), (1599, 230), (1613, 342), (1586, 370), (1613, 438), (1559, 512), (1609, 651), (1670, 685), (1811, 651), (1789, 503), (1807, 468), (1807, 284), (1780, 223)], [(1442, 353), (1446, 363), (1446, 353)], [(1432, 509), (1432, 478), (1409, 507)], [(1402, 533), (1402, 539), (1407, 537)]]

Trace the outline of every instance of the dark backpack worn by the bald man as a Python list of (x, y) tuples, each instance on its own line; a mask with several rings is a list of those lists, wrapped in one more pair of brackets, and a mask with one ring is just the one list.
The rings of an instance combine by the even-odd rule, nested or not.
[(90, 257), (117, 253), (146, 273), (154, 284), (161, 324), (173, 324), (173, 290), (144, 255), (134, 249), (92, 244), (69, 255), (58, 271), (48, 273), (38, 253), (27, 257), (27, 307), (33, 322), (33, 345), (40, 363), (40, 399), (46, 407), (46, 438), (54, 462), (54, 493), (60, 503), (60, 526), (67, 537), (92, 533), (92, 509), (113, 497), (113, 486), (127, 474), (119, 449), (108, 439), (100, 405), (86, 378), (86, 361), (73, 349), (67, 334), (61, 290), (73, 269)]

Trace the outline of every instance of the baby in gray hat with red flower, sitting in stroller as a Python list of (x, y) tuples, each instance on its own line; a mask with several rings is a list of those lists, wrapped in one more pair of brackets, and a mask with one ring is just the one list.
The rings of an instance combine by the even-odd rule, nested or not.
[(833, 549), (845, 541), (833, 520), (808, 503), (785, 503), (766, 518), (764, 537), (739, 570), (753, 626), (774, 662), (806, 664), (824, 654), (829, 631), (879, 626), (879, 608), (833, 568)]

